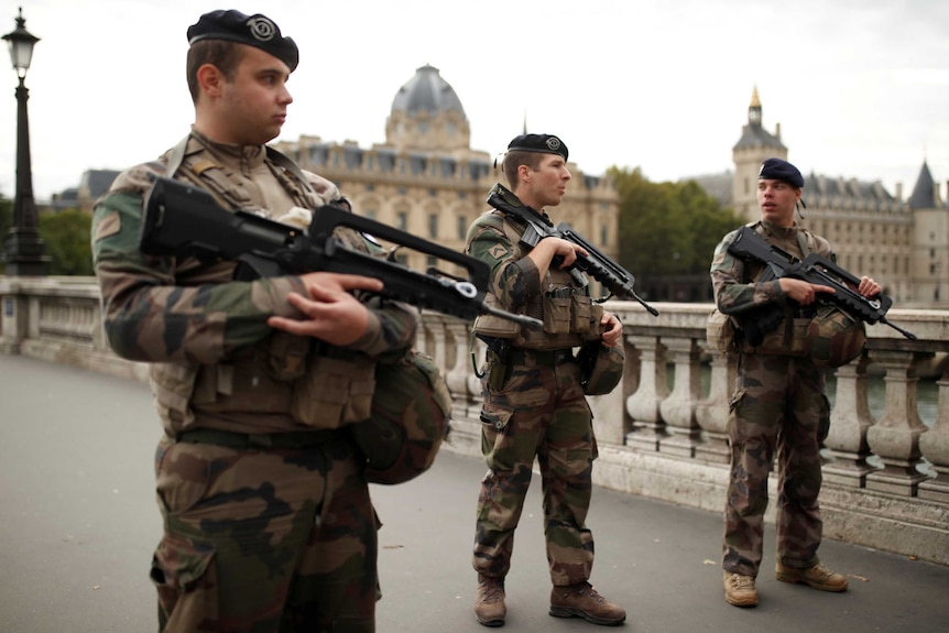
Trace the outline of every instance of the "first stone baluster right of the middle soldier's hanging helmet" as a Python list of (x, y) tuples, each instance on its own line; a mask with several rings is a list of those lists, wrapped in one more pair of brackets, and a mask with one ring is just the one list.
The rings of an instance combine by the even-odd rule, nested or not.
[(626, 342), (640, 356), (640, 384), (626, 400), (626, 413), (633, 430), (626, 435), (626, 445), (656, 451), (659, 440), (666, 437), (659, 403), (669, 395), (666, 378), (666, 348), (656, 336), (628, 336)]

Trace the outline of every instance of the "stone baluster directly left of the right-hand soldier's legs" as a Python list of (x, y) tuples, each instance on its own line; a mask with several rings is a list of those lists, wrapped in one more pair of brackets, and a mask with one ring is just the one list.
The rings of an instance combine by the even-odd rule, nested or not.
[(728, 463), (729, 402), (738, 375), (738, 354), (712, 354), (708, 397), (696, 407), (696, 421), (706, 432), (706, 441), (696, 446), (696, 457), (715, 463)]

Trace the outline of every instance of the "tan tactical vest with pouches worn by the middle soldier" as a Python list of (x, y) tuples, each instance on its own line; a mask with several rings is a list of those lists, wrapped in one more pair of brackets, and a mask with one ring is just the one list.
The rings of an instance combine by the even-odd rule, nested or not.
[[(524, 229), (500, 211), (488, 211), (481, 221), (504, 232), (515, 259), (520, 260), (530, 252), (530, 248), (521, 243)], [(555, 265), (548, 269), (541, 283), (544, 292), (527, 297), (522, 314), (544, 321), (543, 330), (522, 328), (493, 315), (480, 315), (472, 326), (475, 332), (482, 337), (509, 339), (512, 347), (533, 350), (567, 349), (586, 340), (599, 340), (603, 308), (592, 303), (587, 286), (578, 286), (569, 272)], [(508, 309), (500, 305), (493, 293), (488, 293), (486, 302)]]

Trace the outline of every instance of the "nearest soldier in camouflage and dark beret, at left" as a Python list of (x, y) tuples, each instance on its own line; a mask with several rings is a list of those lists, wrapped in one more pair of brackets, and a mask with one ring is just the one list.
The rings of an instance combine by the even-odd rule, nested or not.
[(120, 356), (151, 363), (164, 427), (160, 630), (372, 632), (378, 520), (342, 427), (369, 417), (375, 362), (402, 357), (417, 313), (358, 299), (350, 291), (381, 288), (368, 277), (234, 281), (234, 262), (140, 252), (153, 175), (273, 219), (339, 197), (265, 146), (292, 101), (293, 40), (238, 11), (187, 34), (192, 132), (119, 176), (92, 226), (106, 332)]

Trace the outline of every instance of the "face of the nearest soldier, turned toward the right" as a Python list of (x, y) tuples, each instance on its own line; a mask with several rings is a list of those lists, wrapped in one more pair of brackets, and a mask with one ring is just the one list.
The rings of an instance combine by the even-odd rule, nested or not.
[(290, 68), (273, 55), (244, 46), (243, 57), (221, 91), (221, 117), (231, 142), (261, 145), (275, 139), (293, 102), (286, 81)]

